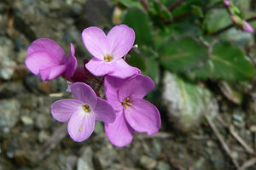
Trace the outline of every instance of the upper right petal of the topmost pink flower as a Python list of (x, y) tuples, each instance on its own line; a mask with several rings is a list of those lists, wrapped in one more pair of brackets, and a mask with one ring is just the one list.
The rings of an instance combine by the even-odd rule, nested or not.
[(126, 25), (114, 26), (107, 37), (113, 58), (120, 59), (132, 48), (135, 32)]

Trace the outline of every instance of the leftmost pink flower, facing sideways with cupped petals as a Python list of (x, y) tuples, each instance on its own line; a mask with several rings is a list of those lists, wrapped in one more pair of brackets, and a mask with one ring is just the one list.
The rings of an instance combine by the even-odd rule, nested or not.
[(43, 81), (49, 81), (65, 74), (72, 77), (78, 62), (75, 58), (73, 44), (71, 54), (66, 57), (63, 49), (53, 40), (40, 38), (27, 48), (26, 68)]

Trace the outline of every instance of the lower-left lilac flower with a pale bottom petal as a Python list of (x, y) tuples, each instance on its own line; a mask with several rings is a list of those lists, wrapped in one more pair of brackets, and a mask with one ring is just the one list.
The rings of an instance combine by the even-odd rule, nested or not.
[(51, 105), (51, 113), (59, 122), (67, 122), (70, 137), (82, 142), (94, 130), (95, 121), (110, 123), (115, 119), (111, 105), (96, 97), (95, 92), (84, 82), (75, 82), (70, 87), (75, 99), (61, 99)]

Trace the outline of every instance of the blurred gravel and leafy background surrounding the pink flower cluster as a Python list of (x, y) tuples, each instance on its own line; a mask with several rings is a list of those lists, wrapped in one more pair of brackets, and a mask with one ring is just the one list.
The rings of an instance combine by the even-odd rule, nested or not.
[[(256, 1), (1, 0), (0, 170), (256, 169)], [(47, 37), (79, 65), (90, 59), (81, 32), (125, 23), (138, 48), (126, 57), (155, 82), (146, 99), (160, 110), (154, 136), (110, 144), (103, 124), (82, 143), (50, 105), (67, 82), (26, 70), (26, 48)], [(249, 24), (249, 25), (248, 25)]]

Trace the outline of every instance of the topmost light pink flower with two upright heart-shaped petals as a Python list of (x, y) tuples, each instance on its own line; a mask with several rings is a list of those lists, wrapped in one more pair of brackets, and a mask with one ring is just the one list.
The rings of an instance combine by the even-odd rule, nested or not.
[(137, 68), (122, 59), (135, 41), (135, 33), (130, 27), (114, 26), (106, 36), (101, 29), (91, 26), (84, 29), (82, 38), (85, 47), (94, 56), (85, 66), (96, 77), (127, 78), (138, 73)]

